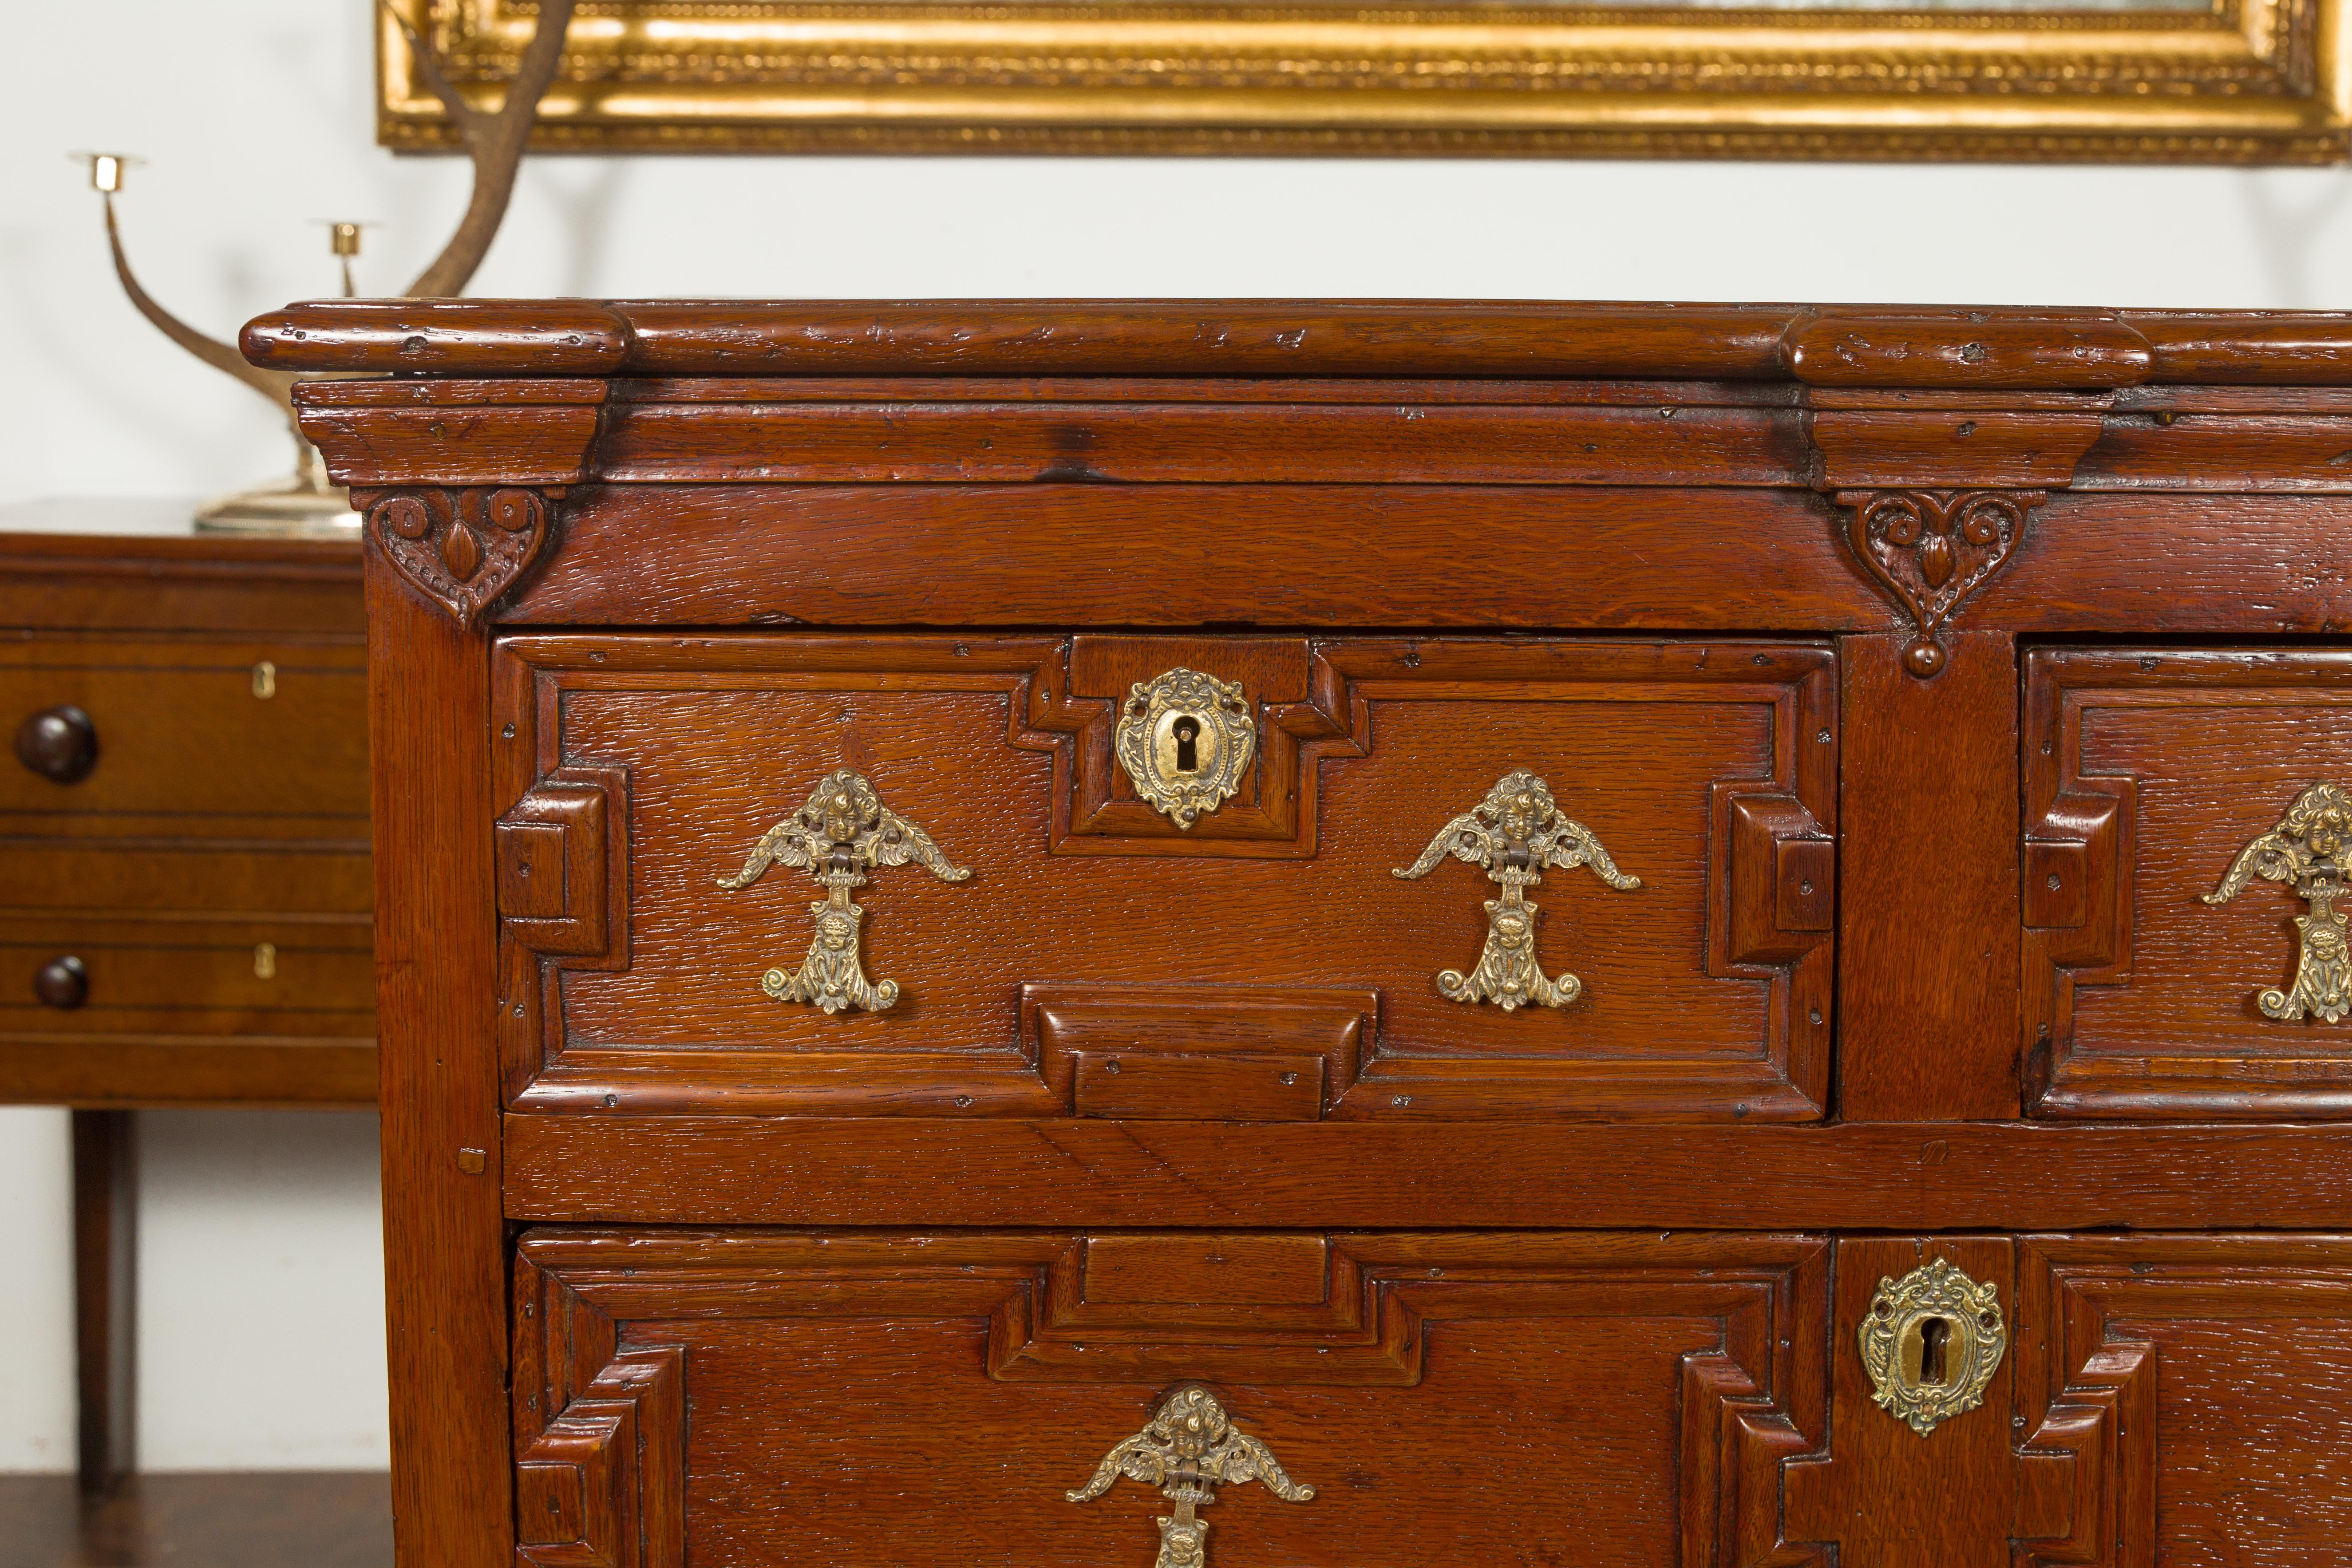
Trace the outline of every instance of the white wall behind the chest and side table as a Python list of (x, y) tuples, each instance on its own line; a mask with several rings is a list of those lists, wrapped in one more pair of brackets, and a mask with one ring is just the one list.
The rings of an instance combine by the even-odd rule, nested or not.
[[(148, 287), (216, 334), (400, 287), (463, 167), (372, 143), (369, 0), (5, 0), (0, 501), (202, 494), (270, 411), (115, 292), (68, 148), (143, 153)], [(1590, 162), (546, 160), (477, 294), (1416, 294), (2352, 306), (2352, 174)], [(372, 1126), (151, 1117), (143, 1460), (383, 1455)], [(0, 1469), (71, 1462), (56, 1112), (0, 1114)], [(259, 1375), (256, 1375), (259, 1368)]]

